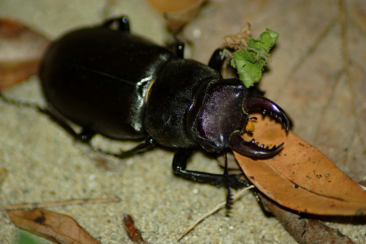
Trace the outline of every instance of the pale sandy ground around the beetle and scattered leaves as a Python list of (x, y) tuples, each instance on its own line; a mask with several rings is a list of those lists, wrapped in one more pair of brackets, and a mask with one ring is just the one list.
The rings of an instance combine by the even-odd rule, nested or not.
[[(215, 15), (238, 5), (212, 1), (201, 15), (210, 22), (193, 22), (186, 35), (194, 43), (206, 41), (207, 48), (190, 48), (195, 59), (209, 60), (212, 50), (221, 43), (221, 33), (234, 33), (243, 23), (235, 15), (226, 15), (227, 23), (215, 23)], [(281, 4), (284, 4), (281, 2)], [(290, 8), (289, 5), (281, 5)], [(260, 9), (260, 3), (251, 6)], [(326, 11), (325, 11), (326, 12)], [(22, 1), (2, 0), (1, 16), (10, 16), (34, 27), (53, 39), (71, 27), (95, 24), (109, 15), (128, 14), (131, 29), (163, 43), (169, 35), (163, 18), (145, 1)], [(259, 13), (261, 16), (261, 14)], [(249, 16), (248, 18), (251, 18)], [(258, 17), (259, 18), (259, 17)], [(240, 16), (243, 19), (243, 16)], [(238, 21), (238, 20), (237, 20)], [(240, 20), (241, 21), (241, 20)], [(268, 20), (263, 21), (264, 25)], [(259, 28), (261, 19), (256, 22)], [(258, 29), (259, 29), (258, 28)], [(256, 30), (259, 33), (260, 30)], [(206, 36), (207, 35), (207, 36)], [(205, 38), (211, 38), (205, 40)], [(216, 38), (217, 37), (217, 38)], [(208, 50), (207, 50), (208, 49)], [(37, 77), (8, 89), (13, 98), (42, 104)], [(193, 183), (173, 175), (173, 151), (158, 147), (148, 153), (119, 160), (101, 155), (72, 138), (47, 117), (32, 109), (0, 102), (0, 167), (8, 177), (1, 186), (0, 204), (45, 202), (79, 198), (118, 196), (119, 203), (54, 207), (49, 210), (73, 217), (101, 243), (132, 243), (122, 226), (123, 214), (130, 214), (148, 243), (177, 243), (176, 237), (195, 219), (225, 200), (225, 190)], [(129, 148), (132, 143), (110, 142), (96, 138), (93, 142), (111, 150)], [(222, 172), (215, 158), (198, 152), (190, 169)], [(100, 165), (107, 165), (108, 169)], [(178, 243), (296, 243), (275, 218), (266, 218), (251, 194), (235, 202), (230, 217), (226, 211), (202, 221)], [(334, 224), (333, 224), (334, 225)], [(366, 241), (365, 226), (336, 225), (360, 243)], [(20, 230), (0, 213), (0, 243), (16, 243)], [(49, 243), (37, 238), (38, 243)]]

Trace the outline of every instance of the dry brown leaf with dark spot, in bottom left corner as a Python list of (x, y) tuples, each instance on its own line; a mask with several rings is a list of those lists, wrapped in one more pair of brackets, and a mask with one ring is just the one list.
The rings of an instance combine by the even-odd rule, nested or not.
[(18, 228), (45, 237), (54, 243), (100, 244), (68, 215), (45, 209), (10, 210), (8, 215)]

